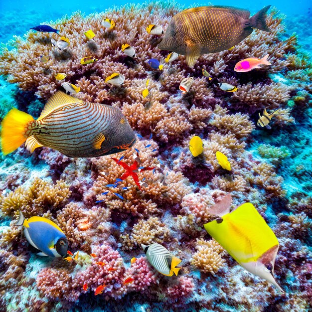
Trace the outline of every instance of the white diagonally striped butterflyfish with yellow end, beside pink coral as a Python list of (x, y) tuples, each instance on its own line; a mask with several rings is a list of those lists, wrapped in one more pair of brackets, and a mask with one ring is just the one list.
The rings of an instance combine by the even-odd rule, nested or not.
[(180, 259), (173, 256), (165, 247), (154, 243), (152, 245), (141, 244), (149, 263), (162, 275), (177, 276), (180, 268), (176, 266), (181, 262)]

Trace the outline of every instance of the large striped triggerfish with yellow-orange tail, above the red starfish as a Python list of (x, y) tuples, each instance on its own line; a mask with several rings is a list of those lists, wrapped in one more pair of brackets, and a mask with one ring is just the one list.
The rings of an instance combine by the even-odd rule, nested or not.
[(1, 127), (4, 155), (26, 141), (30, 152), (45, 146), (70, 157), (97, 157), (127, 150), (136, 141), (120, 110), (83, 102), (60, 91), (48, 100), (37, 120), (12, 109)]

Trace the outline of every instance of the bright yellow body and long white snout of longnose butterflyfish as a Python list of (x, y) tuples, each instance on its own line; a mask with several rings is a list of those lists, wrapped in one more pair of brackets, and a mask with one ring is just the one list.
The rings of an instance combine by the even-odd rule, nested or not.
[(239, 206), (204, 227), (243, 268), (283, 291), (274, 277), (279, 242), (251, 203)]

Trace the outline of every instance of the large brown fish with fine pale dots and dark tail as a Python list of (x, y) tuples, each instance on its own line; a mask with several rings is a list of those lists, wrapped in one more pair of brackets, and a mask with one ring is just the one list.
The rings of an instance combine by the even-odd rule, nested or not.
[(174, 15), (159, 49), (186, 55), (193, 66), (200, 55), (230, 49), (253, 32), (253, 28), (270, 31), (266, 24), (266, 6), (250, 17), (246, 9), (231, 6), (200, 6)]

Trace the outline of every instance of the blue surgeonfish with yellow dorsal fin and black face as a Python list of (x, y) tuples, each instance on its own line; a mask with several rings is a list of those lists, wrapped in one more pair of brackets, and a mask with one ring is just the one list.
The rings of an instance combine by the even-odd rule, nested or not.
[(24, 227), (24, 235), (30, 245), (38, 249), (38, 256), (64, 257), (67, 255), (68, 241), (63, 231), (51, 220), (42, 217), (25, 219), (19, 210), (15, 225)]

